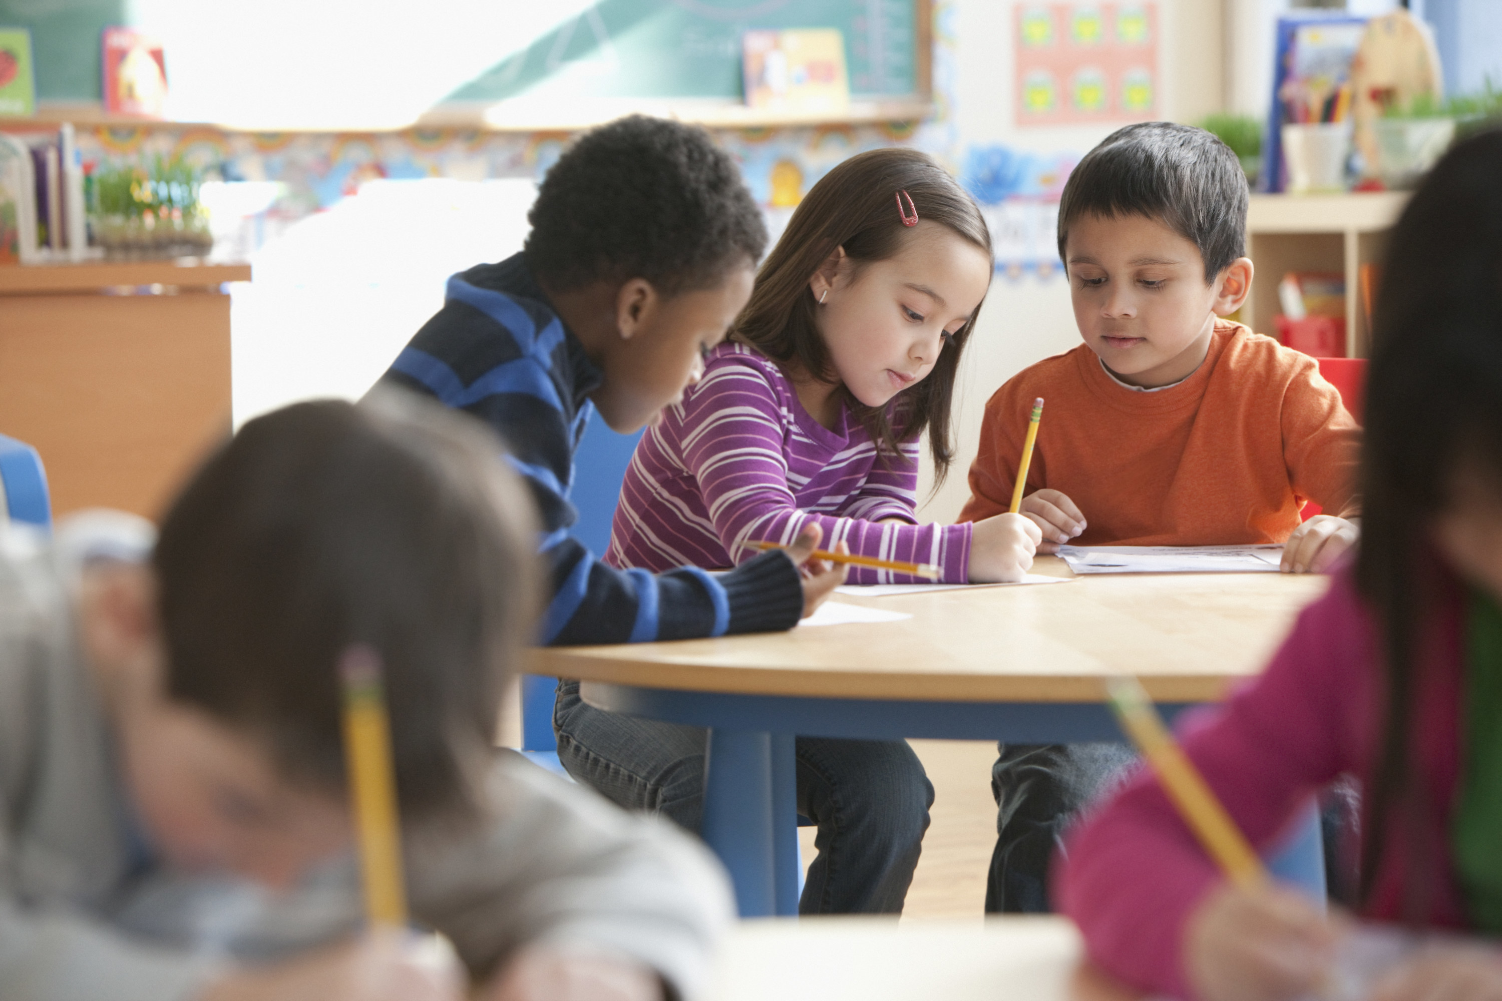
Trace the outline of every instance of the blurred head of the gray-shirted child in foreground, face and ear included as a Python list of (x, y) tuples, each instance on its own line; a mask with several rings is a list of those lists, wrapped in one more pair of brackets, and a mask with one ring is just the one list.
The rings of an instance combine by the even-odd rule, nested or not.
[(412, 398), (287, 407), (192, 476), (150, 570), (86, 575), (86, 644), (167, 858), (287, 884), (347, 845), (354, 647), (382, 666), (404, 818), (479, 815), (538, 585), (530, 503), (499, 453)]

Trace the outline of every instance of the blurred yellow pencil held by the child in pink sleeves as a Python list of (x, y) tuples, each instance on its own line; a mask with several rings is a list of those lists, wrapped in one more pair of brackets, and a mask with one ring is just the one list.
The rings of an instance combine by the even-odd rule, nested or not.
[(1268, 873), (1257, 852), (1247, 843), (1226, 807), (1205, 783), (1199, 768), (1163, 725), (1137, 678), (1111, 678), (1105, 687), (1122, 728), (1152, 765), (1169, 798), (1179, 807), (1179, 813), (1205, 845), (1205, 851), (1236, 885), (1250, 890), (1266, 882)]

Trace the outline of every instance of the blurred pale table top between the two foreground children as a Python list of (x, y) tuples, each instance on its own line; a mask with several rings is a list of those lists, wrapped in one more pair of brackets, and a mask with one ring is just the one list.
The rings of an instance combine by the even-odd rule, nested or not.
[(713, 1001), (1131, 1001), (1080, 962), (1062, 917), (740, 923), (719, 954)]

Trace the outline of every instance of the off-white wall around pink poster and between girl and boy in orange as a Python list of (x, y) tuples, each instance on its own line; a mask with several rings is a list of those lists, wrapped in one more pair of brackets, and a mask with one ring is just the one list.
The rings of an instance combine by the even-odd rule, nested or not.
[[(1018, 128), (1012, 114), (1014, 5), (997, 0), (955, 0), (955, 135), (960, 144), (997, 143), (1048, 153), (1086, 153), (1116, 126)], [(1160, 99), (1163, 117), (1197, 122), (1223, 107), (1226, 86), (1221, 3), (1158, 0), (1163, 20)], [(981, 321), (970, 339), (957, 393), (958, 461), (948, 480), (930, 495), (934, 473), (924, 455), (921, 513), (952, 521), (969, 497), (966, 473), (979, 443), (987, 398), (1008, 378), (1080, 342), (1063, 276), (991, 281)], [(1044, 417), (1047, 420), (1047, 417)]]

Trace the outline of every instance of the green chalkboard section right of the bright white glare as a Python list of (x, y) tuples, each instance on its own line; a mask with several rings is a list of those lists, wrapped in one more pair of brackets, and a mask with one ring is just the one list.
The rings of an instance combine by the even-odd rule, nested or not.
[(922, 89), (918, 9), (919, 0), (599, 0), (448, 101), (739, 98), (742, 33), (804, 27), (844, 33), (852, 93), (903, 98)]

